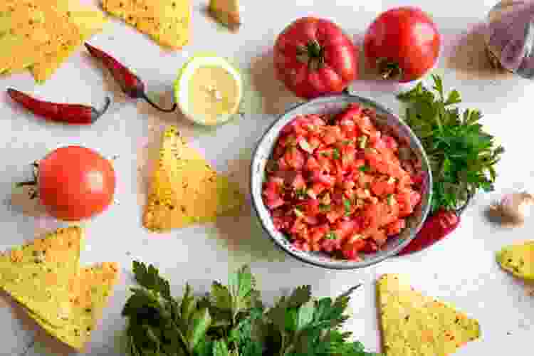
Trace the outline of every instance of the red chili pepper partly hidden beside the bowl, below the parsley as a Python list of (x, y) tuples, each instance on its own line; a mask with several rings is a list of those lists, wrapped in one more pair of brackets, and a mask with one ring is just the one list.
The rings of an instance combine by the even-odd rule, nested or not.
[(424, 221), (415, 239), (404, 247), (397, 256), (404, 256), (427, 248), (444, 239), (460, 224), (460, 214), (453, 210), (439, 210)]

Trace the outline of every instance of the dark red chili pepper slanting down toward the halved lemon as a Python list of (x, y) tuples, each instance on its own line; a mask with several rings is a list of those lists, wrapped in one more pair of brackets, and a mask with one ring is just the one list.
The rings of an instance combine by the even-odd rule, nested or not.
[(112, 77), (117, 80), (117, 83), (119, 83), (122, 91), (130, 98), (145, 99), (147, 100), (147, 103), (152, 105), (157, 110), (163, 112), (173, 112), (174, 110), (176, 110), (176, 103), (174, 103), (174, 105), (170, 109), (163, 109), (160, 108), (154, 102), (152, 102), (152, 100), (150, 100), (150, 98), (148, 98), (147, 94), (145, 93), (145, 83), (143, 83), (142, 80), (137, 77), (137, 75), (132, 73), (131, 70), (123, 66), (119, 61), (110, 56), (108, 53), (105, 53), (104, 51), (101, 51), (100, 49), (95, 48), (88, 43), (85, 43), (85, 48), (87, 48), (91, 56), (102, 61), (105, 68), (108, 68), (108, 70), (110, 70)]

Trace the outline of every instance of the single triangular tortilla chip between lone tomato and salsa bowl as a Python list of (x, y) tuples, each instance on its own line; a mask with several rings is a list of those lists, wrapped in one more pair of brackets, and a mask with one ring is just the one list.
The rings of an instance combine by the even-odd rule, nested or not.
[(197, 150), (187, 147), (176, 127), (165, 130), (145, 206), (147, 229), (161, 232), (211, 222), (243, 203), (236, 183), (218, 175)]

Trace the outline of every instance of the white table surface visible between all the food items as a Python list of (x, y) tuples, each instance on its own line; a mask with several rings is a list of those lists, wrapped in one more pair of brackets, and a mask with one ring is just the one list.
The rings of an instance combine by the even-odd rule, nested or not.
[[(214, 51), (234, 58), (250, 81), (250, 95), (261, 95), (263, 110), (248, 100), (248, 113), (214, 131), (189, 125), (177, 114), (162, 114), (143, 102), (126, 100), (108, 74), (86, 53), (69, 58), (51, 80), (36, 85), (28, 74), (0, 79), (0, 88), (9, 86), (58, 102), (103, 103), (105, 91), (112, 93), (111, 111), (90, 127), (66, 127), (37, 120), (0, 100), (0, 206), (2, 250), (33, 239), (43, 231), (62, 224), (43, 216), (35, 207), (23, 204), (19, 195), (9, 204), (14, 182), (29, 177), (29, 163), (60, 145), (81, 144), (115, 159), (118, 186), (116, 203), (105, 213), (85, 224), (87, 248), (85, 264), (117, 261), (122, 276), (115, 295), (105, 308), (98, 330), (84, 355), (120, 355), (120, 335), (125, 320), (120, 312), (132, 285), (131, 263), (140, 259), (155, 263), (172, 281), (172, 290), (181, 295), (186, 281), (204, 292), (211, 280), (225, 282), (229, 271), (250, 263), (259, 280), (263, 296), (273, 301), (288, 288), (310, 283), (317, 295), (337, 295), (349, 286), (362, 283), (350, 303), (353, 317), (347, 324), (358, 340), (370, 350), (379, 350), (375, 310), (375, 281), (382, 273), (408, 273), (414, 286), (424, 293), (454, 303), (481, 323), (481, 339), (463, 347), (457, 355), (496, 355), (523, 350), (528, 355), (528, 330), (534, 325), (534, 298), (523, 283), (498, 268), (495, 252), (515, 241), (529, 239), (532, 224), (520, 229), (504, 229), (489, 224), (484, 210), (492, 199), (513, 189), (530, 187), (534, 178), (529, 142), (532, 142), (531, 104), (534, 83), (511, 75), (498, 75), (478, 68), (481, 55), (481, 21), (494, 1), (355, 1), (355, 0), (243, 0), (244, 22), (238, 34), (221, 31), (208, 21), (201, 9), (204, 1), (194, 1), (192, 41), (182, 51), (162, 51), (152, 41), (112, 21), (108, 29), (90, 42), (119, 58), (145, 80), (150, 91), (162, 93), (170, 103), (172, 81), (177, 69), (196, 51)], [(401, 4), (423, 6), (438, 24), (444, 40), (436, 73), (444, 75), (446, 88), (457, 88), (464, 107), (480, 108), (483, 124), (498, 136), (506, 148), (498, 165), (496, 191), (480, 194), (462, 216), (462, 224), (449, 239), (414, 256), (391, 258), (359, 271), (328, 271), (308, 266), (278, 251), (263, 234), (250, 203), (236, 218), (220, 219), (216, 224), (150, 234), (142, 228), (140, 217), (145, 201), (147, 156), (157, 150), (161, 127), (174, 124), (190, 137), (220, 172), (233, 175), (244, 191), (248, 185), (251, 150), (261, 133), (283, 111), (292, 97), (275, 79), (270, 48), (278, 33), (293, 19), (316, 15), (335, 20), (360, 42), (362, 33), (379, 12)], [(365, 75), (364, 75), (365, 76)], [(368, 77), (368, 76), (367, 76)], [(397, 85), (360, 80), (355, 93), (399, 110), (394, 93)], [(255, 110), (255, 111), (251, 111)], [(263, 115), (261, 115), (263, 112)], [(9, 298), (1, 298), (0, 355), (63, 355), (66, 349), (46, 337), (21, 316)], [(35, 340), (35, 342), (33, 342)], [(33, 346), (29, 346), (33, 345)]]

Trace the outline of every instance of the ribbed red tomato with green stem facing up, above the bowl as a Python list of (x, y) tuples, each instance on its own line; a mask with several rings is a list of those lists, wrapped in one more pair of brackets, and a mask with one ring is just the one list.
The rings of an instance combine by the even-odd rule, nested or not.
[(340, 93), (357, 78), (358, 50), (332, 21), (304, 17), (278, 35), (274, 64), (278, 79), (301, 98)]

